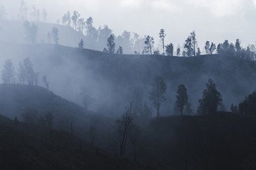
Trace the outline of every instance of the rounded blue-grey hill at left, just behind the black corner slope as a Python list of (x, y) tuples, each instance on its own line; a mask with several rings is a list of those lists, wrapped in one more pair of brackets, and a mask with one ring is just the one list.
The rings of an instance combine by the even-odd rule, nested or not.
[[(44, 118), (46, 113), (53, 113), (53, 128), (70, 132), (73, 123), (73, 134), (76, 137), (90, 141), (88, 130), (92, 125), (97, 126), (102, 138), (110, 135), (114, 120), (97, 115), (77, 104), (56, 96), (41, 86), (23, 84), (0, 85), (0, 114), (14, 120), (24, 122), (23, 114), (32, 109), (37, 118)], [(102, 128), (101, 128), (102, 127)], [(100, 142), (99, 142), (100, 145)]]

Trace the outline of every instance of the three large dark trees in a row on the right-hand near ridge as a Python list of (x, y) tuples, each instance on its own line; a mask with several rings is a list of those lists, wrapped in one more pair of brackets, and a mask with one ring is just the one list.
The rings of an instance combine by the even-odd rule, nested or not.
[[(151, 91), (149, 93), (149, 99), (152, 101), (152, 105), (156, 108), (156, 117), (159, 117), (159, 109), (161, 103), (166, 101), (166, 83), (160, 76), (154, 78), (151, 84)], [(198, 100), (199, 106), (197, 113), (199, 115), (215, 113), (218, 111), (219, 106), (223, 106), (223, 100), (220, 92), (217, 90), (217, 85), (212, 79), (208, 79), (206, 89), (203, 91), (203, 96)], [(223, 106), (224, 107), (224, 106)], [(186, 108), (186, 114), (191, 114), (191, 103), (188, 102), (187, 89), (184, 84), (180, 84), (177, 89), (176, 95), (176, 108), (178, 108), (181, 115), (183, 115), (184, 108)]]

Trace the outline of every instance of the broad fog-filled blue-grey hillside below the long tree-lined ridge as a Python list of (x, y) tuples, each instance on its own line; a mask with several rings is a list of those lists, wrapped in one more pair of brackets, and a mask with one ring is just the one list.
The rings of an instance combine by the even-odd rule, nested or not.
[[(18, 62), (30, 57), (40, 77), (47, 75), (50, 89), (58, 96), (82, 105), (80, 87), (85, 86), (95, 99), (89, 109), (105, 115), (121, 115), (130, 101), (146, 102), (150, 106), (150, 84), (156, 74), (161, 75), (167, 84), (161, 115), (175, 114), (173, 110), (179, 84), (186, 85), (194, 112), (208, 79), (217, 84), (228, 110), (231, 103), (238, 104), (255, 90), (255, 62), (236, 57), (110, 55), (61, 45), (11, 43), (1, 43), (0, 50), (3, 54), (0, 62), (11, 58), (16, 69)], [(41, 82), (39, 84), (42, 86)]]

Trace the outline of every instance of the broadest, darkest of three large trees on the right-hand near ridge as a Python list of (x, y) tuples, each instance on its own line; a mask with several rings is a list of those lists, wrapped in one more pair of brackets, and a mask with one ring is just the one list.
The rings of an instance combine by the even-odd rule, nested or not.
[(208, 79), (206, 89), (203, 91), (203, 97), (198, 100), (198, 113), (207, 114), (217, 111), (218, 106), (222, 103), (223, 99), (216, 89), (216, 84), (212, 79)]

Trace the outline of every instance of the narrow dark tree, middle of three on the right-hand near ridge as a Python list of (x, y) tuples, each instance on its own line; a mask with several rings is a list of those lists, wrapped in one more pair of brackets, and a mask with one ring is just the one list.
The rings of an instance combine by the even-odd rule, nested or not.
[(181, 115), (183, 113), (184, 106), (188, 103), (187, 89), (184, 84), (178, 86), (176, 95), (176, 106), (181, 110)]

